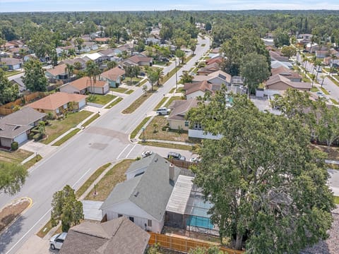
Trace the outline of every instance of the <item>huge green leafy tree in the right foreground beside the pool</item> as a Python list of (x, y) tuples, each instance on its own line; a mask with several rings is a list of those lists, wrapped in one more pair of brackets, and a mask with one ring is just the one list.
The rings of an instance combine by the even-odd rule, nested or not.
[[(259, 111), (225, 90), (187, 114), (220, 140), (203, 140), (195, 183), (203, 189), (220, 238), (246, 253), (297, 253), (327, 237), (334, 207), (324, 155), (309, 149), (298, 119)], [(246, 241), (245, 241), (246, 239)]]

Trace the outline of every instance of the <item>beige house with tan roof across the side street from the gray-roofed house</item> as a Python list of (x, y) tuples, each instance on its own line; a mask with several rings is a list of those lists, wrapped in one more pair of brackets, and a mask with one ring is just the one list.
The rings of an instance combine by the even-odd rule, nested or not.
[[(171, 109), (171, 113), (167, 118), (167, 122), (169, 123), (169, 128), (172, 130), (189, 130), (189, 121), (185, 119), (187, 111), (189, 109), (194, 108), (198, 105), (198, 100), (194, 97), (187, 100), (174, 100), (169, 105), (169, 109)], [(198, 128), (198, 126), (197, 126)]]

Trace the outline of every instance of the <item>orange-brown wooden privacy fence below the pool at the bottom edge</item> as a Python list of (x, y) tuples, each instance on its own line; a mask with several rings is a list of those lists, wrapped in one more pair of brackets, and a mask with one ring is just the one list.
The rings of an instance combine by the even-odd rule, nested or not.
[[(192, 248), (204, 247), (209, 248), (211, 246), (210, 243), (206, 243), (203, 241), (197, 241), (192, 238), (182, 238), (179, 236), (168, 236), (164, 234), (156, 234), (153, 232), (150, 233), (150, 240), (148, 241), (149, 245), (155, 245), (155, 243), (160, 244), (163, 248), (169, 248), (172, 250), (178, 250), (182, 252), (189, 253), (189, 250)], [(220, 250), (227, 254), (243, 254), (242, 250), (233, 250), (230, 248), (225, 248), (222, 246), (218, 246)]]

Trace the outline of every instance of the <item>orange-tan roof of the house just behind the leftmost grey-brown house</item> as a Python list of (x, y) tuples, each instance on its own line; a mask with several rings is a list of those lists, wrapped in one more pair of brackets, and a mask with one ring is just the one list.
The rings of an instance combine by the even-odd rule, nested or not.
[(68, 94), (66, 92), (56, 92), (48, 95), (36, 102), (28, 104), (33, 109), (55, 110), (69, 102), (80, 102), (85, 99), (87, 95)]

